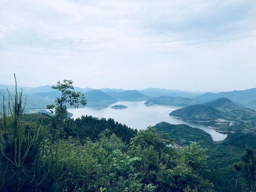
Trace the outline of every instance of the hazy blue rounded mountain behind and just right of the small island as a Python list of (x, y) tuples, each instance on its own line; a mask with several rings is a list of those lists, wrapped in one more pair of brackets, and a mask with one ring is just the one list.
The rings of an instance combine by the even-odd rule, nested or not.
[(106, 94), (123, 101), (143, 101), (149, 99), (149, 96), (146, 96), (137, 90), (127, 90), (122, 92), (108, 91)]

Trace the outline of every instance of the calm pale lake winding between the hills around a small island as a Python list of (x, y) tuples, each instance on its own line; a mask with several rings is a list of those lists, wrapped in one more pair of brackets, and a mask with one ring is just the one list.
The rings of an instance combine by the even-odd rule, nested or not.
[[(105, 117), (105, 118), (113, 118), (115, 121), (118, 121), (122, 124), (127, 125), (131, 128), (136, 129), (145, 129), (148, 125), (156, 125), (157, 123), (162, 121), (169, 122), (172, 124), (186, 124), (192, 127), (198, 127), (207, 133), (212, 135), (214, 141), (224, 140), (227, 135), (221, 134), (214, 131), (211, 128), (207, 128), (207, 126), (202, 125), (196, 122), (186, 122), (179, 119), (175, 119), (169, 116), (169, 113), (176, 110), (176, 108), (162, 107), (156, 105), (144, 105), (145, 101), (142, 102), (126, 102), (119, 101), (116, 102), (107, 108), (78, 108), (73, 109), (69, 108), (68, 111), (73, 113), (73, 118), (81, 117), (82, 115), (95, 116), (95, 117)], [(125, 109), (112, 109), (113, 105), (125, 105), (128, 108)]]

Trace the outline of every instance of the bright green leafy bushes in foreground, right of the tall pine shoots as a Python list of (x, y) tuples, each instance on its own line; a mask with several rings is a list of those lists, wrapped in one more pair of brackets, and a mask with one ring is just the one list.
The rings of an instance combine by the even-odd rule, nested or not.
[[(164, 138), (164, 140), (162, 139)], [(193, 143), (181, 150), (167, 147), (172, 140), (148, 128), (129, 145), (108, 130), (95, 142), (69, 137), (61, 140), (64, 157), (59, 189), (66, 191), (210, 191), (201, 177), (207, 171), (204, 150)]]

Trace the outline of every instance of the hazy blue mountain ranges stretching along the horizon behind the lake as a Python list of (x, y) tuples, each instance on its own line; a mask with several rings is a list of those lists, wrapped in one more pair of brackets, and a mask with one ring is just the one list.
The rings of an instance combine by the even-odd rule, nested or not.
[[(12, 94), (15, 92), (14, 85), (0, 84), (1, 96), (8, 95), (6, 88), (8, 88), (10, 93)], [(50, 85), (40, 87), (22, 87), (19, 85), (17, 86), (17, 90), (20, 90), (21, 88), (23, 89), (23, 93), (27, 96), (26, 108), (45, 108), (46, 104), (51, 104), (52, 102), (54, 102), (55, 97), (59, 96), (59, 93), (54, 91)], [(197, 92), (192, 93), (182, 90), (168, 90), (159, 88), (146, 88), (143, 90), (102, 88), (100, 90), (95, 90), (90, 87), (75, 87), (75, 90), (80, 91), (82, 93), (86, 93), (85, 96), (88, 101), (88, 104), (111, 104), (116, 102), (117, 100), (147, 100), (145, 104), (152, 102), (156, 105), (172, 105), (177, 107), (186, 107), (189, 105), (201, 104), (204, 102), (213, 101), (221, 97), (225, 97), (238, 105), (256, 109), (256, 88), (248, 90), (234, 90), (230, 92), (203, 94)]]

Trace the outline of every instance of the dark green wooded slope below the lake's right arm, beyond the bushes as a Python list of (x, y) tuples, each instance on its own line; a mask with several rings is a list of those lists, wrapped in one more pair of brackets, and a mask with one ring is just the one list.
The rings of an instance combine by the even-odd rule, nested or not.
[(154, 127), (157, 128), (158, 133), (163, 131), (169, 133), (170, 137), (174, 137), (175, 142), (180, 145), (189, 145), (195, 141), (208, 149), (206, 151), (207, 166), (211, 171), (205, 172), (204, 177), (212, 181), (216, 191), (233, 192), (244, 189), (245, 180), (241, 178), (237, 182), (239, 173), (234, 169), (233, 163), (240, 161), (246, 143), (255, 148), (255, 134), (229, 134), (224, 141), (214, 142), (206, 132), (188, 125), (162, 122)]

